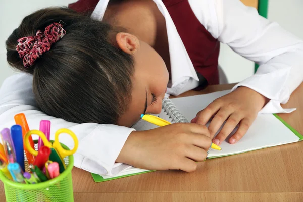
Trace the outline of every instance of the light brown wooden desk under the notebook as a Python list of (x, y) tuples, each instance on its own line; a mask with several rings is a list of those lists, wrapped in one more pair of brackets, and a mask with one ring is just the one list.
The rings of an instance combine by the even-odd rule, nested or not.
[[(185, 95), (230, 89), (209, 86)], [(303, 134), (303, 84), (280, 116)], [(156, 171), (95, 183), (90, 173), (73, 169), (75, 201), (303, 201), (303, 142), (265, 148), (198, 163), (193, 173)], [(3, 191), (3, 189), (2, 189)]]

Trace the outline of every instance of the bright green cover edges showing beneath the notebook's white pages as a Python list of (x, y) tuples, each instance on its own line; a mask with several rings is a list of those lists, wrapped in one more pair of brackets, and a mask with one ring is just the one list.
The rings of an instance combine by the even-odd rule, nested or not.
[[(298, 136), (299, 141), (303, 140), (303, 136), (298, 131), (296, 131), (294, 128), (292, 128), (288, 123), (286, 123), (277, 114), (274, 114), (274, 116), (277, 119), (279, 119), (287, 128), (289, 128), (289, 130), (291, 130), (296, 136)], [(258, 149), (256, 149), (256, 150), (258, 150)], [(249, 151), (246, 151), (246, 152), (249, 152)], [(223, 156), (215, 156), (215, 157), (211, 157), (211, 158), (208, 158), (208, 159), (214, 159), (214, 158), (218, 158), (218, 157), (226, 157), (226, 156), (231, 156), (231, 155), (236, 155), (236, 154), (241, 154), (241, 153), (235, 153), (235, 154), (229, 154), (229, 155), (223, 155)], [(143, 173), (149, 173), (149, 172), (153, 172), (153, 171), (155, 171), (155, 170), (143, 171), (143, 172), (139, 172), (139, 173), (133, 173), (133, 174), (129, 174), (129, 175), (122, 175), (122, 176), (118, 176), (118, 177), (111, 177), (111, 178), (108, 178), (108, 179), (104, 179), (102, 176), (100, 176), (98, 174), (94, 174), (94, 173), (91, 173), (91, 175), (92, 175), (95, 182), (105, 182), (105, 181), (109, 181), (109, 180), (119, 179), (119, 178), (123, 178), (123, 177), (129, 177), (129, 176), (133, 176), (133, 175), (139, 175), (139, 174), (143, 174)]]

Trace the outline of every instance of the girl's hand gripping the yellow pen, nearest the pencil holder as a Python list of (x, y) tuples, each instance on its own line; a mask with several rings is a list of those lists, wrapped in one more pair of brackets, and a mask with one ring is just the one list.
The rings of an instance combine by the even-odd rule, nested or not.
[(206, 126), (176, 123), (147, 131), (133, 131), (116, 162), (150, 170), (196, 170), (211, 146)]

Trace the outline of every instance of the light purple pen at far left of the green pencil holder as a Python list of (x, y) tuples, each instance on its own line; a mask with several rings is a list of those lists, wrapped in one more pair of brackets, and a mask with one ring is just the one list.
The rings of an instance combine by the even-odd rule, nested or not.
[(4, 151), (8, 157), (9, 163), (16, 162), (16, 151), (11, 137), (10, 129), (5, 128), (1, 132)]

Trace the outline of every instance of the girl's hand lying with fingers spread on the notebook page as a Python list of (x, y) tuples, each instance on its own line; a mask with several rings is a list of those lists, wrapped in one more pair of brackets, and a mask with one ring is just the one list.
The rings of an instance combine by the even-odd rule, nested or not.
[(229, 139), (229, 143), (234, 144), (245, 135), (256, 119), (258, 112), (266, 103), (267, 98), (258, 92), (247, 87), (239, 87), (235, 91), (216, 99), (204, 110), (198, 112), (191, 122), (205, 125), (214, 117), (208, 127), (211, 138), (213, 138), (226, 121), (222, 130), (213, 139), (213, 142), (217, 145), (220, 145), (239, 124), (236, 133)]

